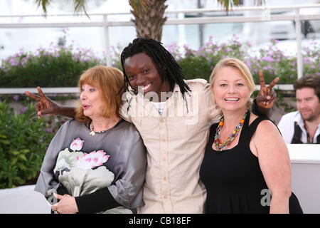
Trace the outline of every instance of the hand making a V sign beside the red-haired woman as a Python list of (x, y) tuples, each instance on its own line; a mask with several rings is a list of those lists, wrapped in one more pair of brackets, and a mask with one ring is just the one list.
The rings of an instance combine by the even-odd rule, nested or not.
[(60, 108), (60, 105), (58, 103), (55, 103), (53, 100), (48, 98), (40, 87), (37, 87), (39, 95), (34, 95), (33, 93), (30, 93), (28, 91), (24, 92), (26, 95), (28, 95), (29, 98), (32, 98), (33, 100), (36, 100), (36, 111), (38, 114), (38, 118), (41, 118), (42, 115), (50, 114), (50, 115), (57, 115), (58, 110)]

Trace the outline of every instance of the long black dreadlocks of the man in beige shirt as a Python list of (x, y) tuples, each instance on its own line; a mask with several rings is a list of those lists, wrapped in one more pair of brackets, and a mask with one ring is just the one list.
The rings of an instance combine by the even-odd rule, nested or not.
[(183, 81), (184, 76), (182, 69), (176, 63), (174, 56), (162, 46), (161, 42), (155, 41), (152, 38), (135, 38), (132, 43), (129, 43), (121, 53), (121, 66), (124, 74), (124, 86), (128, 90), (129, 79), (124, 70), (124, 61), (126, 58), (134, 56), (137, 53), (145, 53), (156, 64), (156, 69), (161, 76), (162, 81), (169, 81), (171, 90), (174, 88), (175, 83), (180, 87), (180, 91), (185, 98), (184, 93), (188, 93), (191, 89)]

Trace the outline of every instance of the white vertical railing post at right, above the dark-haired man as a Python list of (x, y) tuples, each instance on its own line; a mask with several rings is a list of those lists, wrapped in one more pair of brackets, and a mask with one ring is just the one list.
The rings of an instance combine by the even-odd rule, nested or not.
[(303, 76), (303, 63), (302, 63), (302, 35), (301, 35), (301, 20), (300, 9), (297, 8), (295, 12), (294, 21), (296, 24), (296, 41), (297, 41), (297, 73), (298, 78)]

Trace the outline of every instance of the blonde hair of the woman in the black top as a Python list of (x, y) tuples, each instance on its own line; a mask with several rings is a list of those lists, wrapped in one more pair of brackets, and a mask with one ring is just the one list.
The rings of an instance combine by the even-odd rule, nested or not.
[[(213, 83), (215, 81), (215, 76), (216, 76), (217, 72), (221, 68), (225, 68), (225, 67), (232, 67), (232, 68), (238, 69), (238, 71), (240, 71), (241, 76), (245, 79), (245, 82), (247, 83), (247, 86), (250, 89), (250, 92), (251, 92), (250, 95), (252, 95), (253, 91), (255, 91), (255, 81), (253, 81), (253, 77), (252, 77), (252, 74), (250, 73), (249, 68), (247, 68), (245, 63), (240, 61), (238, 58), (224, 58), (223, 60), (220, 60), (215, 65), (215, 68), (213, 68), (213, 71), (210, 75), (210, 88), (211, 88), (211, 90), (213, 90)], [(251, 101), (250, 100), (248, 100), (247, 108), (249, 108), (249, 109), (251, 108)]]

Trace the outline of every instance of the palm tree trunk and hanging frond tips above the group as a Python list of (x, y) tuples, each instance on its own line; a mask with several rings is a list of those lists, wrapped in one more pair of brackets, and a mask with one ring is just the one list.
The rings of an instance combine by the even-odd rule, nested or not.
[[(47, 6), (52, 0), (35, 0), (38, 6), (42, 6), (44, 16), (47, 15)], [(239, 6), (242, 0), (216, 0), (223, 6), (225, 11), (230, 11), (233, 6)], [(154, 38), (156, 41), (161, 41), (162, 28), (166, 22), (164, 11), (167, 6), (166, 0), (129, 0), (132, 6), (131, 13), (134, 15), (134, 25), (136, 26), (137, 37)], [(74, 0), (75, 14), (79, 14), (85, 10), (86, 0)], [(255, 4), (264, 4), (265, 0), (255, 0)], [(88, 16), (88, 15), (87, 15)]]

